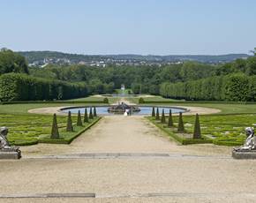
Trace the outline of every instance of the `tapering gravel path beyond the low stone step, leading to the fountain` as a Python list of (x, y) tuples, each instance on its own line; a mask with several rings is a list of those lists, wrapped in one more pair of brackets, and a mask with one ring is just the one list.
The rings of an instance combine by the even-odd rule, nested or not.
[(145, 117), (109, 116), (70, 145), (38, 144), (21, 147), (23, 157), (87, 153), (227, 154), (227, 147), (211, 145), (184, 147), (149, 123)]

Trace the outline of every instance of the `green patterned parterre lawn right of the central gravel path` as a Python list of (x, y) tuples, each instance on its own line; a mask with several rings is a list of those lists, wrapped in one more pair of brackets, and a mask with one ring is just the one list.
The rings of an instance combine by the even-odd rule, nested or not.
[[(175, 124), (174, 128), (165, 127), (163, 124), (155, 121), (152, 117), (148, 117), (148, 119), (158, 127), (162, 128), (162, 130), (169, 133), (171, 137), (183, 143), (183, 140), (178, 136), (178, 133), (175, 133), (177, 132), (178, 117), (173, 117)], [(194, 120), (195, 117), (192, 116), (184, 117), (185, 131), (190, 134), (193, 132)], [(255, 123), (255, 114), (200, 116), (200, 125), (203, 137), (212, 140), (216, 145), (242, 145), (245, 141), (245, 127), (256, 125)]]

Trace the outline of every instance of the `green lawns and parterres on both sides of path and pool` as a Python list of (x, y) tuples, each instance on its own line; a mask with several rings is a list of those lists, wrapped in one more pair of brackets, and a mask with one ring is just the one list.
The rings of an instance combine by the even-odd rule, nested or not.
[[(125, 97), (130, 102), (139, 103), (140, 97)], [(169, 114), (164, 115), (165, 122), (161, 121), (162, 112), (159, 112), (159, 119), (148, 117), (147, 119), (157, 127), (166, 132), (171, 138), (176, 139), (181, 144), (200, 144), (214, 143), (215, 145), (239, 146), (245, 140), (245, 127), (255, 125), (255, 116), (253, 113), (256, 104), (245, 103), (225, 103), (225, 102), (177, 102), (168, 101), (159, 96), (141, 95), (144, 99), (142, 106), (186, 106), (186, 107), (205, 107), (221, 109), (220, 113), (214, 115), (200, 115), (200, 132), (201, 139), (192, 139), (194, 131), (195, 115), (182, 117), (184, 124), (184, 132), (177, 132), (179, 117), (172, 114), (172, 124), (169, 126)], [(108, 105), (104, 100), (106, 97), (87, 97), (79, 100), (66, 102), (31, 102), (31, 103), (2, 103), (0, 105), (0, 124), (8, 126), (10, 129), (9, 139), (11, 144), (34, 145), (37, 143), (61, 143), (68, 144), (72, 139), (76, 138), (81, 132), (87, 130), (95, 124), (101, 117), (94, 117), (84, 122), (84, 115), (81, 114), (82, 126), (77, 126), (78, 114), (72, 114), (73, 132), (66, 132), (67, 116), (58, 115), (56, 117), (58, 131), (60, 137), (58, 139), (50, 139), (52, 130), (53, 115), (39, 115), (28, 113), (29, 109), (47, 108), (47, 107), (63, 107), (63, 106), (87, 106), (89, 107)], [(111, 100), (111, 98), (108, 98)], [(117, 100), (117, 98), (116, 98)], [(88, 116), (89, 117), (89, 116)]]

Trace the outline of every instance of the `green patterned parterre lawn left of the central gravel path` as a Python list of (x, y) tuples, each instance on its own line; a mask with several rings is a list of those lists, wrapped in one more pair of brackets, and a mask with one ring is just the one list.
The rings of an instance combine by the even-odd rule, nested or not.
[[(12, 145), (33, 145), (40, 140), (49, 138), (52, 118), (52, 116), (34, 114), (0, 114), (0, 126), (9, 128), (8, 139)], [(75, 126), (74, 132), (65, 132), (66, 119), (66, 117), (57, 117), (57, 124), (61, 139), (68, 143), (80, 131), (98, 121), (99, 118), (94, 118), (89, 124), (84, 124), (83, 127)], [(75, 124), (76, 117), (72, 117), (72, 121)]]

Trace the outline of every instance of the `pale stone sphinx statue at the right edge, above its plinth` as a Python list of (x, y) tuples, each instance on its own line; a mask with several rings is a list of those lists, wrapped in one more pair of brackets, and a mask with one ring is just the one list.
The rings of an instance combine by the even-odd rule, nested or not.
[(235, 147), (234, 151), (246, 152), (246, 151), (256, 150), (256, 137), (254, 136), (254, 129), (252, 127), (246, 127), (245, 134), (247, 136), (247, 139), (245, 140), (244, 146)]

